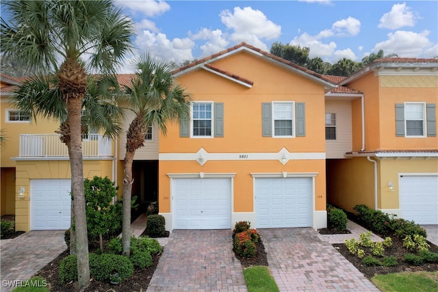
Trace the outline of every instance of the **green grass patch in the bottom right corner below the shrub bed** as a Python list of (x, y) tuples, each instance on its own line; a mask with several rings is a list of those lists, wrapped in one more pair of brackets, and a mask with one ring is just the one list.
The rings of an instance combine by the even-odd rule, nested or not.
[(383, 292), (438, 291), (438, 271), (378, 275), (371, 280)]

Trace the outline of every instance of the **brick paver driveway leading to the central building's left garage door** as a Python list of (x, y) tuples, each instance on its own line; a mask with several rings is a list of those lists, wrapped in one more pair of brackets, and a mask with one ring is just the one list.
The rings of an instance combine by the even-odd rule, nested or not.
[(174, 230), (147, 291), (247, 291), (231, 230)]

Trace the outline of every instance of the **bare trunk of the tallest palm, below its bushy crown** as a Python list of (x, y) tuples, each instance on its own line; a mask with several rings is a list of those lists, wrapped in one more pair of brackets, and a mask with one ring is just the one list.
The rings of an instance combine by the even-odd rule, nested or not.
[[(73, 94), (72, 94), (73, 95)], [(67, 110), (70, 124), (70, 168), (71, 168), (71, 191), (75, 208), (75, 234), (77, 252), (77, 275), (79, 289), (88, 287), (90, 284), (90, 265), (88, 263), (88, 234), (85, 211), (85, 196), (83, 194), (83, 161), (81, 140), (81, 113), (82, 98), (68, 96)]]

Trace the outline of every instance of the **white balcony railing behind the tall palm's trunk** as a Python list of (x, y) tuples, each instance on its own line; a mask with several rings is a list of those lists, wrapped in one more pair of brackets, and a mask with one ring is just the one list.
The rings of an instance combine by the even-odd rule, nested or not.
[[(110, 157), (111, 140), (99, 134), (88, 134), (82, 142), (83, 157)], [(20, 157), (68, 157), (66, 144), (57, 134), (21, 134)]]

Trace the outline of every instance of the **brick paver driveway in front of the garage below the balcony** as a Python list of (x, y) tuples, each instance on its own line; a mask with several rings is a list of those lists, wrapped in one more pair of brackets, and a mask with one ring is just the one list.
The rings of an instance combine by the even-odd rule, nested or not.
[(14, 239), (1, 239), (1, 288), (4, 280), (29, 280), (37, 271), (66, 250), (64, 230), (34, 230)]

